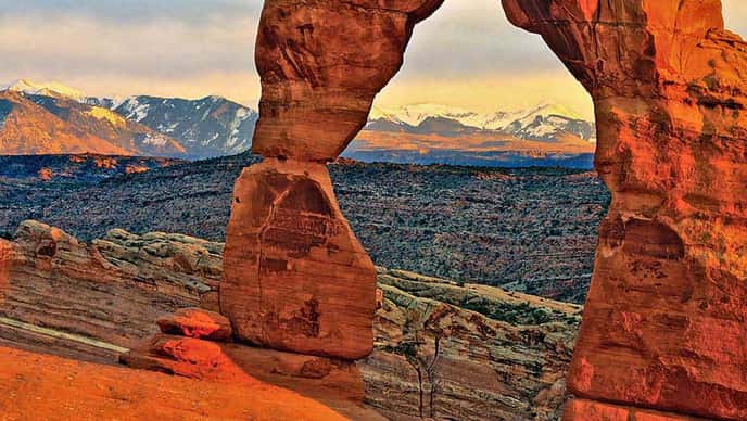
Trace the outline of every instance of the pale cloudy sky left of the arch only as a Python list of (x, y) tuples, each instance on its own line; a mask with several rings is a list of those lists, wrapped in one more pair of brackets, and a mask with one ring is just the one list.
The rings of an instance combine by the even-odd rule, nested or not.
[[(165, 94), (253, 102), (259, 12), (259, 1), (238, 0), (3, 4), (0, 80), (54, 79), (105, 95), (151, 93), (145, 89), (155, 86)], [(207, 80), (214, 85), (202, 85)]]

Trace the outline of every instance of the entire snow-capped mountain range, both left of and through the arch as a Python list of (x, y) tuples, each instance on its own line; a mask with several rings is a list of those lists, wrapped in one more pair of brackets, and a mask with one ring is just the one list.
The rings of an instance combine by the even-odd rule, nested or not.
[[(225, 156), (251, 148), (257, 118), (255, 110), (215, 95), (96, 98), (62, 84), (21, 79), (0, 87), (0, 154)], [(418, 164), (588, 166), (594, 141), (593, 123), (553, 103), (494, 113), (438, 104), (375, 106), (343, 155)]]

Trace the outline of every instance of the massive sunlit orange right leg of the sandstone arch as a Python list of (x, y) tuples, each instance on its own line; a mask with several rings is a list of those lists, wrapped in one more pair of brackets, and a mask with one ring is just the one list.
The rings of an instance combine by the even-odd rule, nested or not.
[(747, 44), (719, 0), (503, 3), (592, 94), (613, 197), (569, 386), (747, 418)]

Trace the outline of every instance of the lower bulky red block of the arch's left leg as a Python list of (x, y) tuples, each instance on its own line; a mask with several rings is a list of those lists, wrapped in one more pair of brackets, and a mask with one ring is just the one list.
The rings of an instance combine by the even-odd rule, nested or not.
[(340, 213), (327, 167), (245, 168), (226, 233), (221, 314), (252, 344), (343, 359), (374, 347), (376, 269)]

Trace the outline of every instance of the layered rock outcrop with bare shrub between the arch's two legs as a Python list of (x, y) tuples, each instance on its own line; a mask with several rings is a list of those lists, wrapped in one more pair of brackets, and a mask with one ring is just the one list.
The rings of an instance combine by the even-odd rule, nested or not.
[(556, 420), (579, 306), (380, 269), (366, 401), (393, 420)]

